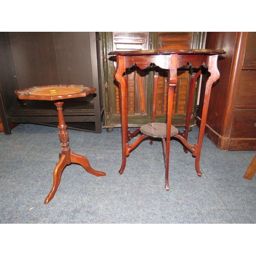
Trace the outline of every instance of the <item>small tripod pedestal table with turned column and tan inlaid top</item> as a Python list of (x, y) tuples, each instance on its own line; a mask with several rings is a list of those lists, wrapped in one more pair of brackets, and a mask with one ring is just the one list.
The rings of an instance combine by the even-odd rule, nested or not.
[(59, 162), (56, 164), (55, 169), (53, 171), (53, 185), (49, 195), (45, 199), (45, 204), (48, 204), (53, 199), (57, 191), (58, 185), (60, 183), (60, 178), (63, 169), (69, 164), (80, 164), (84, 169), (87, 170), (87, 172), (95, 176), (105, 176), (105, 173), (93, 169), (86, 157), (71, 152), (68, 142), (69, 134), (67, 131), (67, 125), (65, 123), (62, 110), (64, 99), (86, 97), (87, 95), (95, 91), (96, 89), (92, 87), (73, 84), (55, 84), (52, 86), (38, 86), (15, 91), (15, 94), (18, 96), (19, 99), (51, 100), (54, 101), (54, 104), (57, 107), (59, 138), (61, 141), (61, 153), (59, 154)]

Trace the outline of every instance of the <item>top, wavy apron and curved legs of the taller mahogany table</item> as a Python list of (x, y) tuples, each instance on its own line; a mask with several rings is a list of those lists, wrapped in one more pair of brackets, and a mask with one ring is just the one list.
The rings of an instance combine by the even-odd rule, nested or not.
[[(186, 139), (181, 135), (178, 137), (183, 144), (187, 145), (192, 151), (193, 156), (196, 157), (196, 172), (198, 176), (201, 176), (201, 170), (199, 166), (201, 147), (204, 136), (204, 129), (206, 123), (206, 117), (208, 112), (209, 96), (212, 87), (212, 83), (218, 80), (219, 71), (217, 68), (217, 59), (219, 54), (224, 54), (223, 50), (157, 50), (157, 51), (115, 51), (109, 53), (110, 55), (116, 55), (117, 68), (114, 74), (114, 78), (119, 84), (120, 92), (120, 115), (121, 115), (121, 132), (122, 132), (122, 164), (119, 173), (122, 174), (126, 165), (126, 156), (129, 156), (130, 152), (135, 148), (134, 144), (129, 144), (129, 130), (128, 130), (128, 113), (127, 113), (127, 79), (125, 72), (132, 67), (138, 67), (140, 69), (146, 69), (148, 67), (159, 67), (168, 71), (168, 100), (167, 100), (167, 131), (166, 131), (166, 156), (165, 156), (165, 189), (169, 189), (168, 173), (169, 173), (169, 150), (170, 150), (170, 131), (172, 126), (172, 107), (174, 98), (174, 89), (177, 83), (177, 69), (184, 65), (190, 65), (195, 69), (199, 69), (201, 66), (205, 66), (210, 73), (210, 76), (206, 82), (204, 92), (204, 103), (202, 110), (202, 120), (200, 124), (198, 143), (194, 146), (189, 145)], [(196, 72), (198, 73), (198, 71)], [(195, 79), (193, 80), (195, 82)], [(193, 93), (193, 88), (190, 93)], [(191, 101), (190, 97), (190, 101)], [(188, 105), (190, 105), (188, 103)], [(189, 106), (191, 108), (191, 106)], [(190, 110), (189, 110), (190, 111)], [(189, 115), (189, 113), (188, 113)], [(186, 127), (188, 129), (188, 127)], [(142, 135), (142, 137), (145, 135)], [(186, 133), (187, 137), (187, 133)], [(144, 138), (144, 137), (143, 137)], [(141, 139), (137, 139), (134, 143), (140, 142)], [(137, 146), (137, 144), (136, 144)]]

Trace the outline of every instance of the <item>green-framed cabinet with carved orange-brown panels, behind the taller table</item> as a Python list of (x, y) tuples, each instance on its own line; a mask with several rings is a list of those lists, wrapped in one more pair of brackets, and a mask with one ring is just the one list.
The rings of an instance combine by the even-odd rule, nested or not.
[[(120, 126), (119, 89), (113, 78), (116, 62), (113, 57), (108, 56), (109, 52), (115, 50), (201, 49), (204, 34), (203, 32), (101, 32), (105, 109), (103, 127), (112, 131), (113, 127)], [(153, 77), (153, 71), (150, 70), (127, 72), (130, 127), (141, 126), (151, 121)], [(173, 108), (173, 124), (176, 126), (185, 125), (189, 79), (189, 70), (185, 67), (180, 69)], [(166, 89), (167, 74), (162, 72), (159, 74), (156, 121), (166, 119)], [(197, 93), (194, 102), (191, 126), (195, 125)]]

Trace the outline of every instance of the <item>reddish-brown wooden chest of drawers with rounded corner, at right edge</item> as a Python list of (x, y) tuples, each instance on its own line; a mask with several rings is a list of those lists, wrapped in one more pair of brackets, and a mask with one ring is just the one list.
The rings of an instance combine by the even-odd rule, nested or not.
[(218, 61), (205, 135), (222, 150), (256, 150), (256, 32), (207, 32), (205, 48), (226, 51)]

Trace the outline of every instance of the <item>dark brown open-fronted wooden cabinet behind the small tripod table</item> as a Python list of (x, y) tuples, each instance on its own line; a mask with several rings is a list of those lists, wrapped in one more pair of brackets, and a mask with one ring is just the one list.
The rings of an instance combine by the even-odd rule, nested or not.
[(5, 133), (11, 133), (11, 123), (57, 125), (52, 102), (20, 101), (14, 94), (48, 84), (96, 88), (86, 98), (66, 100), (63, 112), (68, 128), (100, 133), (101, 49), (99, 32), (0, 32), (0, 115)]

